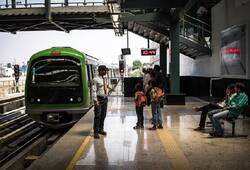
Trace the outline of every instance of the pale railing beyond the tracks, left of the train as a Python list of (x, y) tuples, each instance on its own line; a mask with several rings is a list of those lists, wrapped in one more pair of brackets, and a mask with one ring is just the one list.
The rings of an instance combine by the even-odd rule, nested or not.
[(24, 92), (25, 88), (25, 78), (19, 80), (16, 84), (15, 79), (13, 80), (0, 80), (0, 96), (5, 96), (6, 94), (12, 94), (17, 92)]

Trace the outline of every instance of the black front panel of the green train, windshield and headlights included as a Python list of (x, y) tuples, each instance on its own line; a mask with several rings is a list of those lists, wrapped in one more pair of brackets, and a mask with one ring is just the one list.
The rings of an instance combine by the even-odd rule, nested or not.
[(28, 83), (28, 100), (39, 104), (73, 104), (83, 101), (81, 64), (72, 57), (34, 60)]

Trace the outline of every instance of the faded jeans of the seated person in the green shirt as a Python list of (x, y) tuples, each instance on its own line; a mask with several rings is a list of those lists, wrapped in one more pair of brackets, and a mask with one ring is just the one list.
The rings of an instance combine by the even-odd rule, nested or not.
[(213, 123), (213, 128), (215, 130), (215, 133), (218, 135), (223, 134), (223, 129), (220, 124), (220, 119), (226, 118), (228, 115), (229, 110), (223, 110), (223, 109), (217, 109), (208, 112), (208, 117)]

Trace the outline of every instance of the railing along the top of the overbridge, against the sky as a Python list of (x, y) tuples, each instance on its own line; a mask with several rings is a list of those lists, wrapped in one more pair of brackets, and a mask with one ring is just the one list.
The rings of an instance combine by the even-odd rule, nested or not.
[[(68, 1), (67, 3), (64, 2), (51, 2), (51, 7), (65, 7), (65, 6), (101, 6), (106, 5), (107, 0), (82, 0), (82, 1)], [(0, 9), (12, 9), (14, 8), (38, 8), (38, 7), (45, 7), (45, 1), (41, 0), (41, 2), (28, 2), (27, 0), (23, 2), (16, 1), (16, 4), (12, 5), (11, 2), (0, 4)]]

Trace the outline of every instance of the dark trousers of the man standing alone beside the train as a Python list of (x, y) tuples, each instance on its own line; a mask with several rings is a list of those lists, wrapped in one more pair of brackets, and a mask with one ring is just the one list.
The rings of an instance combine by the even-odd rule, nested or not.
[(108, 107), (108, 98), (104, 98), (102, 100), (98, 100), (99, 106), (95, 106), (95, 118), (94, 118), (94, 133), (98, 133), (103, 131), (104, 120), (107, 113)]

